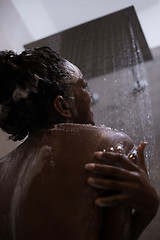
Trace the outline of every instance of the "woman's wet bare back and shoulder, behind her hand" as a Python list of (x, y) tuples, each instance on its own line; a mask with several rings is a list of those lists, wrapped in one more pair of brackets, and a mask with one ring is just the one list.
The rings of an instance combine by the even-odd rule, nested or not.
[(130, 211), (95, 206), (104, 192), (86, 183), (92, 174), (84, 168), (96, 162), (95, 151), (119, 144), (126, 154), (133, 147), (125, 134), (90, 125), (62, 124), (29, 137), (0, 162), (0, 239), (99, 240), (125, 235)]

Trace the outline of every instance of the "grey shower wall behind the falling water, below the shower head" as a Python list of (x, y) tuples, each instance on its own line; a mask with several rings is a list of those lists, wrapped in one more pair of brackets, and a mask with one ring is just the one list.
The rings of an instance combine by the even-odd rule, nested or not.
[[(160, 196), (160, 48), (152, 50), (153, 60), (140, 65), (148, 85), (134, 90), (133, 69), (97, 76), (88, 81), (98, 99), (93, 105), (96, 124), (127, 133), (135, 142), (147, 141), (146, 165), (150, 181)], [(160, 210), (140, 240), (160, 239)]]

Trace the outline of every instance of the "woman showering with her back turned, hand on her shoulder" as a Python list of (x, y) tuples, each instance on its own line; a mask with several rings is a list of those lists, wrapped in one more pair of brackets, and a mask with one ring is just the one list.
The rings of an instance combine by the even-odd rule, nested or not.
[(137, 239), (156, 215), (146, 143), (94, 127), (82, 73), (48, 47), (0, 53), (0, 127), (28, 136), (0, 162), (1, 239)]

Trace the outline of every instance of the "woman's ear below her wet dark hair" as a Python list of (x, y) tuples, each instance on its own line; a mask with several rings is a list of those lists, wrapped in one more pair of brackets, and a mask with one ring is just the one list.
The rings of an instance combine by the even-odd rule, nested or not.
[(66, 119), (70, 119), (72, 117), (71, 111), (70, 111), (70, 105), (65, 101), (65, 99), (58, 95), (54, 99), (54, 108), (55, 110)]

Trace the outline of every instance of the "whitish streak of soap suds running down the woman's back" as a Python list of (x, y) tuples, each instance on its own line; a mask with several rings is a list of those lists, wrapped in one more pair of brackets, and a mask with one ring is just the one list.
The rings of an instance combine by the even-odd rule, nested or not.
[(29, 187), (31, 186), (34, 177), (41, 172), (43, 166), (46, 162), (50, 162), (50, 166), (52, 168), (55, 167), (55, 162), (53, 160), (52, 149), (50, 146), (43, 146), (37, 155), (30, 155), (30, 160), (32, 160), (31, 164), (27, 163), (21, 169), (18, 180), (14, 189), (12, 203), (11, 203), (11, 229), (13, 240), (17, 239), (16, 236), (16, 228), (17, 228), (17, 215), (19, 215), (19, 206), (22, 199), (28, 194)]

